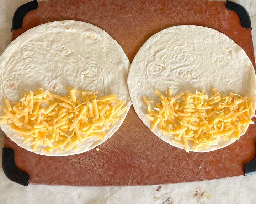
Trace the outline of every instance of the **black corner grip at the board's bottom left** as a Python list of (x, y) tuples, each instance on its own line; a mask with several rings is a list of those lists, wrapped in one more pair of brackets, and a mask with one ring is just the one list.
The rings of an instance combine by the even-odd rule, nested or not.
[(27, 186), (30, 176), (26, 172), (18, 169), (15, 165), (14, 150), (6, 147), (2, 148), (2, 150), (2, 167), (7, 178), (23, 186)]

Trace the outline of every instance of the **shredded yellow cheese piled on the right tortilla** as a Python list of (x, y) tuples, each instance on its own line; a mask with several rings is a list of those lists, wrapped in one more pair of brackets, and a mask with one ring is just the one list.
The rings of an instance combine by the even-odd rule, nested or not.
[(242, 97), (229, 93), (220, 95), (215, 88), (214, 96), (206, 92), (182, 92), (172, 97), (168, 89), (167, 97), (158, 90), (159, 103), (145, 96), (142, 97), (148, 107), (146, 117), (151, 121), (151, 130), (158, 125), (159, 131), (172, 135), (172, 142), (182, 145), (189, 152), (188, 143), (193, 143), (192, 150), (207, 149), (217, 145), (218, 141), (239, 140), (241, 130), (246, 130), (255, 116), (251, 97)]

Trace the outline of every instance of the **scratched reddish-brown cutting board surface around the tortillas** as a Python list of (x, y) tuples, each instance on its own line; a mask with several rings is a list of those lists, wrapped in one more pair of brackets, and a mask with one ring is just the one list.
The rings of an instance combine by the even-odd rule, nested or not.
[[(39, 24), (63, 19), (94, 24), (121, 45), (132, 62), (140, 46), (162, 29), (195, 24), (216, 29), (240, 45), (255, 67), (251, 30), (239, 16), (214, 1), (86, 1), (39, 2), (26, 15), (12, 40)], [(30, 174), (30, 183), (76, 186), (151, 185), (218, 179), (243, 175), (255, 156), (255, 125), (232, 145), (209, 153), (186, 153), (156, 137), (130, 108), (121, 128), (95, 149), (68, 157), (45, 157), (18, 147), (5, 136), (5, 147), (15, 150), (17, 166)]]

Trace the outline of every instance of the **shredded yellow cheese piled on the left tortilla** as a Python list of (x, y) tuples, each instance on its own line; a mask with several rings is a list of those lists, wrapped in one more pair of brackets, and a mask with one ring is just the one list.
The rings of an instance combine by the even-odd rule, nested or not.
[(23, 94), (13, 106), (5, 100), (0, 124), (10, 124), (24, 143), (31, 143), (33, 151), (39, 146), (47, 152), (61, 152), (63, 148), (76, 151), (87, 137), (102, 140), (105, 130), (122, 120), (120, 116), (127, 110), (126, 101), (118, 100), (114, 94), (97, 99), (97, 92), (68, 89), (68, 97), (40, 88)]

